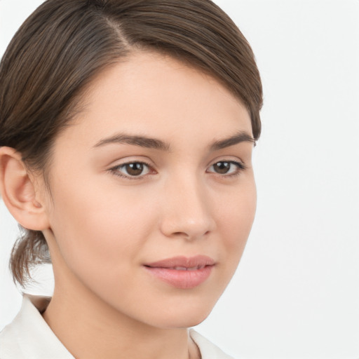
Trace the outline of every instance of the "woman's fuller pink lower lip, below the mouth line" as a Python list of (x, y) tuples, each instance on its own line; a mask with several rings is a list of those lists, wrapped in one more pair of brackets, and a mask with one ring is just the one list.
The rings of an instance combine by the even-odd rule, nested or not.
[(191, 289), (205, 282), (212, 272), (213, 266), (205, 266), (196, 271), (179, 271), (177, 269), (145, 266), (156, 278), (179, 289)]

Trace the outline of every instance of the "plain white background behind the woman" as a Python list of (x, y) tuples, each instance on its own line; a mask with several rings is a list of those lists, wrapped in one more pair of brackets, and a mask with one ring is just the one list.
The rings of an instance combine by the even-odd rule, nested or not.
[[(41, 2), (0, 0), (0, 54)], [(198, 331), (238, 359), (358, 359), (359, 1), (216, 2), (255, 51), (263, 133), (250, 240)], [(0, 229), (1, 328), (21, 302), (4, 203)]]

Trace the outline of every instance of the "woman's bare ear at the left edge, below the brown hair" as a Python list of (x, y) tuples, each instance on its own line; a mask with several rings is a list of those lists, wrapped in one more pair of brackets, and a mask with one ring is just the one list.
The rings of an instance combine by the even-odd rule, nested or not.
[(11, 147), (0, 147), (0, 191), (11, 215), (24, 228), (43, 231), (49, 227), (34, 178), (29, 176), (21, 154)]

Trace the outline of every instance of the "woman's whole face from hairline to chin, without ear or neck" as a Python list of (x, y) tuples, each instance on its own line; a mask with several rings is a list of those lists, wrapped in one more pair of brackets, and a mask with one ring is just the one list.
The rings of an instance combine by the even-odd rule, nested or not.
[(251, 138), (243, 104), (182, 62), (143, 52), (106, 69), (54, 144), (55, 278), (141, 323), (200, 323), (252, 226)]

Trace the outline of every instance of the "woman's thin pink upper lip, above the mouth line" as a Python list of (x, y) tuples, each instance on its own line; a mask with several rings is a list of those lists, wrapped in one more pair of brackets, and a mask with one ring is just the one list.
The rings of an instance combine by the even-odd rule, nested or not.
[(201, 269), (205, 266), (213, 266), (215, 265), (215, 260), (206, 255), (196, 255), (194, 257), (172, 257), (167, 259), (161, 259), (157, 262), (152, 262), (148, 264), (144, 264), (145, 266), (149, 266), (151, 268), (183, 268), (183, 269)]

